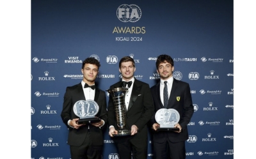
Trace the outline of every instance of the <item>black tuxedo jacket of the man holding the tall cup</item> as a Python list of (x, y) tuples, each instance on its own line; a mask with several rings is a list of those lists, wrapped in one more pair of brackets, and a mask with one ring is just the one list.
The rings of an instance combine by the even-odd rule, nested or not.
[[(109, 87), (109, 89), (112, 90), (116, 87), (122, 87), (122, 81), (113, 84)], [(138, 133), (129, 136), (134, 142), (140, 144), (140, 139), (147, 140), (147, 124), (153, 114), (154, 103), (152, 95), (150, 93), (149, 85), (134, 78), (134, 84), (132, 87), (129, 107), (126, 112), (125, 123), (125, 128), (127, 130), (131, 130), (132, 125), (136, 125), (138, 127)], [(113, 105), (111, 95), (109, 95), (108, 103), (108, 124), (109, 126), (115, 126), (115, 130), (118, 130), (118, 126), (116, 125), (115, 107)], [(113, 137), (114, 142), (124, 142), (124, 140), (122, 139), (124, 139), (124, 137)]]

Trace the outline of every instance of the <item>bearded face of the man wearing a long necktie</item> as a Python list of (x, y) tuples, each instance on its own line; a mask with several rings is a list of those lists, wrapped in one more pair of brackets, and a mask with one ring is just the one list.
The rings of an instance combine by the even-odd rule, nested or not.
[(172, 66), (172, 64), (168, 63), (167, 61), (164, 61), (163, 63), (159, 64), (157, 73), (160, 75), (161, 79), (167, 80), (172, 77), (173, 70), (174, 66)]

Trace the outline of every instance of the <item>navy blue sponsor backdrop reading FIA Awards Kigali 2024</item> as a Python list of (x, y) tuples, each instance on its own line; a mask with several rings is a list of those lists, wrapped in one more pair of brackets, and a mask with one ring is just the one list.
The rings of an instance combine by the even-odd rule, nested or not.
[[(96, 85), (106, 91), (121, 80), (124, 56), (136, 63), (134, 77), (154, 86), (160, 54), (173, 58), (173, 77), (191, 88), (187, 158), (234, 158), (233, 3), (32, 0), (31, 159), (70, 158), (60, 114), (66, 87), (83, 79), (86, 57), (100, 61)], [(119, 158), (108, 130), (102, 158)]]

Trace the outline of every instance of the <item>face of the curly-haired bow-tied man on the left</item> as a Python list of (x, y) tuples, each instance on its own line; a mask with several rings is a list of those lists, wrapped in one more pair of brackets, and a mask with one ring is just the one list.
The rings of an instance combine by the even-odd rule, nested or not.
[(83, 73), (83, 81), (89, 85), (94, 84), (94, 81), (99, 73), (98, 66), (96, 64), (86, 63), (84, 68), (81, 69)]

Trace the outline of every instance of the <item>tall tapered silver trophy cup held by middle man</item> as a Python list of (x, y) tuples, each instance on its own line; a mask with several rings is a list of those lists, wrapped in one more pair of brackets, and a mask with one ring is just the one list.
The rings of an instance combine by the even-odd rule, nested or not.
[(113, 136), (125, 136), (131, 135), (131, 130), (125, 129), (126, 122), (126, 106), (125, 106), (125, 94), (127, 93), (129, 88), (127, 87), (116, 87), (115, 89), (108, 89), (109, 96), (112, 97), (115, 116), (118, 126), (118, 133), (113, 134)]

